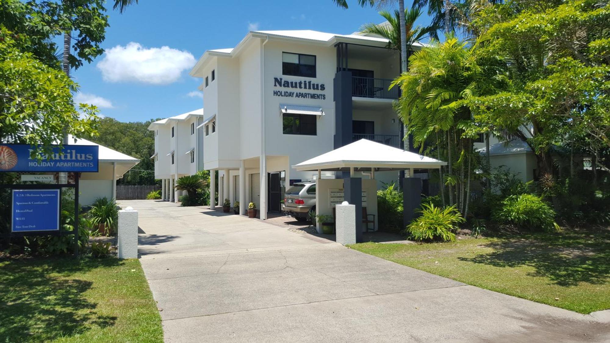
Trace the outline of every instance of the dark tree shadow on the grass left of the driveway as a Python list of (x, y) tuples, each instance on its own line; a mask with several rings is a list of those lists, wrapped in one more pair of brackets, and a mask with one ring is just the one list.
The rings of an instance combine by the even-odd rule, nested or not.
[(70, 275), (118, 264), (117, 259), (0, 260), (0, 341), (49, 341), (114, 325), (117, 317), (99, 314), (97, 304), (84, 297), (92, 283)]

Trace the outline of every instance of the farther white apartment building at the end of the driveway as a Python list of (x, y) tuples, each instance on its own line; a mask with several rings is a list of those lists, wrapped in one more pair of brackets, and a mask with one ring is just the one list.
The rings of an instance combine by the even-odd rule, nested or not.
[[(154, 121), (154, 176), (161, 179), (162, 199), (176, 202), (182, 195), (174, 190), (181, 176), (203, 170), (203, 109)], [(172, 191), (173, 190), (173, 191)]]

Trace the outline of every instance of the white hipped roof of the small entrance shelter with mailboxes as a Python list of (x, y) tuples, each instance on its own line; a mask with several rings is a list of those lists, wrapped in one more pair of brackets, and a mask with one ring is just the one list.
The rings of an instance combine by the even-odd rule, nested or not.
[(306, 170), (403, 170), (406, 168), (439, 168), (447, 162), (411, 153), (389, 145), (361, 139), (321, 154), (292, 167)]

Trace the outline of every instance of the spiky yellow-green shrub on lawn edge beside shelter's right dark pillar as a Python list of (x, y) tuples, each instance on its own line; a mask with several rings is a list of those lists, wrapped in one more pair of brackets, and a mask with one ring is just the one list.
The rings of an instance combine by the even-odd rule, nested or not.
[(459, 224), (464, 223), (464, 217), (456, 206), (439, 208), (433, 204), (423, 204), (421, 213), (406, 228), (406, 233), (415, 240), (436, 240), (454, 242)]

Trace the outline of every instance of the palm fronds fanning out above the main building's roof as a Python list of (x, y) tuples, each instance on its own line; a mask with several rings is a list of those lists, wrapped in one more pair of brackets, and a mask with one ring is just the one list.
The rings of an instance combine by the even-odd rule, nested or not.
[[(400, 13), (398, 10), (394, 10), (394, 13), (390, 13), (386, 10), (379, 12), (379, 15), (384, 17), (387, 21), (383, 24), (368, 23), (362, 25), (360, 32), (363, 34), (373, 34), (380, 37), (386, 38), (389, 42), (387, 48), (397, 49), (401, 51), (402, 39), (401, 39), (401, 25), (400, 25)], [(422, 15), (422, 10), (411, 9), (406, 10), (404, 13), (404, 29), (406, 32), (406, 47), (407, 51), (411, 49), (413, 44), (429, 33), (431, 27), (422, 27), (420, 25), (415, 26), (415, 21)], [(403, 52), (400, 52), (402, 60)], [(408, 57), (408, 56), (407, 56)]]

